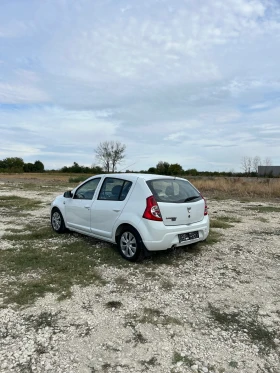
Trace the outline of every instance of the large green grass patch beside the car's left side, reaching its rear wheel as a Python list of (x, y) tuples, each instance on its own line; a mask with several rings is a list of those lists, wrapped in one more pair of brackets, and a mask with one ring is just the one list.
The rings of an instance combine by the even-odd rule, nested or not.
[(102, 264), (127, 268), (137, 264), (122, 259), (113, 245), (79, 234), (56, 234), (50, 227), (27, 225), (6, 233), (3, 239), (14, 249), (0, 250), (0, 272), (11, 278), (1, 288), (5, 304), (25, 305), (46, 293), (58, 299), (71, 296), (73, 285), (103, 285), (98, 271)]

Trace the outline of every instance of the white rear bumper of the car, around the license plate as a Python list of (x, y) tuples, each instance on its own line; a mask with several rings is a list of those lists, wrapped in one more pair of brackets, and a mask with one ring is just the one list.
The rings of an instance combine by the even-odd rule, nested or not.
[[(151, 224), (152, 223), (152, 224)], [(203, 241), (209, 234), (209, 217), (204, 216), (204, 219), (198, 223), (190, 225), (165, 226), (161, 222), (151, 222), (145, 224), (145, 232), (141, 232), (143, 243), (150, 251), (167, 250), (171, 247), (179, 247), (190, 245), (195, 242)], [(178, 235), (180, 233), (199, 232), (199, 238), (179, 242)]]

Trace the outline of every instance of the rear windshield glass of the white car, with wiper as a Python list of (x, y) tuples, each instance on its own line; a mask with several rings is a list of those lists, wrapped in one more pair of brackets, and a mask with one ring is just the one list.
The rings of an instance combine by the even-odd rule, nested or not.
[(202, 198), (187, 180), (155, 179), (148, 180), (147, 184), (157, 202), (187, 203), (196, 202)]

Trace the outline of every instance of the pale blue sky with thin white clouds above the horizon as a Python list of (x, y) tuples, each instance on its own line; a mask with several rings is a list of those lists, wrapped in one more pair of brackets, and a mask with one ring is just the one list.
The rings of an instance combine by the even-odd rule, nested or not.
[(0, 0), (0, 159), (280, 165), (279, 0)]

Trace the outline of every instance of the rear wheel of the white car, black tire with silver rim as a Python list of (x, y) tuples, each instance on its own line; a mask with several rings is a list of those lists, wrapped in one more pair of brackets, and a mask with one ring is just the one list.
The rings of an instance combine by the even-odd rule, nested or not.
[(130, 262), (136, 262), (143, 256), (142, 239), (132, 227), (127, 227), (121, 231), (117, 239), (117, 245), (121, 256)]

